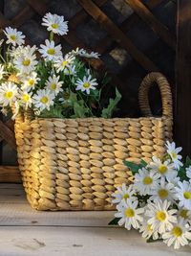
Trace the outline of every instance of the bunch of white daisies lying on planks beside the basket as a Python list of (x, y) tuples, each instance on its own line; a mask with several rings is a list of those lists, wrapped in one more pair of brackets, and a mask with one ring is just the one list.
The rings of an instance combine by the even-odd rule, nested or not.
[(150, 164), (126, 162), (134, 184), (117, 188), (113, 203), (116, 219), (111, 223), (138, 229), (146, 240), (162, 240), (174, 248), (191, 242), (191, 159), (181, 162), (181, 148), (166, 143), (167, 152)]

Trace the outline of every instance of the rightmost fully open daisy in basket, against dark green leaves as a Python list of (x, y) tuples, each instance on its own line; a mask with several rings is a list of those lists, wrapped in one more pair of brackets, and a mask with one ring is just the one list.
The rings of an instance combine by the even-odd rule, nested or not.
[(92, 76), (88, 74), (88, 76), (84, 76), (82, 80), (78, 79), (75, 82), (75, 90), (85, 91), (87, 94), (90, 94), (90, 90), (95, 90), (97, 84), (96, 79), (93, 79)]

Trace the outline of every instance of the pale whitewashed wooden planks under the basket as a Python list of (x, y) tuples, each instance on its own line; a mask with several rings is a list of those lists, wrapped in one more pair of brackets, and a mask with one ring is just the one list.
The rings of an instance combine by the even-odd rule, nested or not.
[(22, 186), (0, 184), (0, 256), (190, 256), (191, 247), (173, 250), (146, 244), (136, 231), (109, 227), (113, 212), (37, 212)]

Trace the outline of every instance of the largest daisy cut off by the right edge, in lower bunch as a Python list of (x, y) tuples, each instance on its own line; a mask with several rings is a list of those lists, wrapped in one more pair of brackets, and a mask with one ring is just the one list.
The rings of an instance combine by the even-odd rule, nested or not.
[(179, 206), (191, 210), (191, 183), (183, 180), (175, 187), (176, 198), (180, 200)]

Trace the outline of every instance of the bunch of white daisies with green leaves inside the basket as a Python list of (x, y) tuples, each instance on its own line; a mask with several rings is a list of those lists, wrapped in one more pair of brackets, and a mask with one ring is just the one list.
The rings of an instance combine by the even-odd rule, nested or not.
[(2, 112), (8, 114), (14, 105), (13, 117), (28, 109), (40, 117), (111, 117), (121, 96), (116, 90), (116, 99), (110, 99), (108, 105), (101, 103), (101, 88), (109, 79), (107, 76), (96, 79), (88, 65), (88, 58), (99, 58), (99, 55), (78, 48), (63, 54), (54, 36), (67, 35), (68, 21), (64, 16), (47, 13), (42, 25), (47, 28), (49, 39), (39, 47), (26, 45), (25, 35), (16, 29), (8, 27), (3, 31), (7, 37), (4, 50), (7, 50), (3, 55), (4, 40), (1, 40)]

